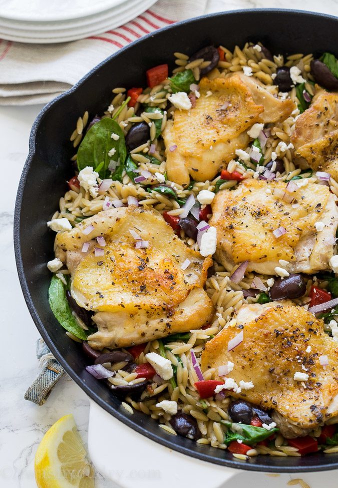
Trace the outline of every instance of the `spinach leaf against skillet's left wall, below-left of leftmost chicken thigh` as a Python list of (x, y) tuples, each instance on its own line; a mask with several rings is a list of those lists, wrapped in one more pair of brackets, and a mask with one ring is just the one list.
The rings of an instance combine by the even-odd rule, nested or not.
[(71, 308), (66, 298), (66, 285), (60, 278), (53, 276), (49, 287), (49, 304), (56, 319), (62, 327), (79, 339), (87, 339), (87, 333), (84, 331), (72, 315)]

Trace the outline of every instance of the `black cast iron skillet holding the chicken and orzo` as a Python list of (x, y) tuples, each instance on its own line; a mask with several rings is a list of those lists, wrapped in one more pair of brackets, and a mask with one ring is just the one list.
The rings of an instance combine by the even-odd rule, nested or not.
[(88, 361), (81, 345), (64, 333), (48, 303), (55, 233), (46, 222), (58, 208), (59, 198), (74, 175), (69, 142), (79, 115), (103, 113), (112, 99), (112, 88), (146, 86), (147, 69), (162, 63), (174, 68), (175, 51), (193, 54), (204, 46), (220, 44), (233, 49), (246, 41), (261, 41), (274, 54), (329, 51), (338, 55), (338, 19), (319, 14), (282, 10), (221, 13), (180, 22), (121, 49), (86, 75), (74, 88), (48, 104), (34, 123), (30, 152), (19, 184), (15, 209), (15, 252), (23, 293), (34, 322), (67, 373), (105, 410), (169, 448), (199, 459), (256, 471), (318, 471), (338, 467), (337, 454), (315, 453), (304, 457), (257, 456), (248, 462), (228, 451), (173, 437), (155, 420), (135, 411), (127, 416), (117, 399), (100, 381), (85, 371)]

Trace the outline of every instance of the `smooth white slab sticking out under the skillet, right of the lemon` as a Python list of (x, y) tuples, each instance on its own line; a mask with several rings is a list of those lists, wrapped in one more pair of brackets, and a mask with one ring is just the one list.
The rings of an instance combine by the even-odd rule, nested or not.
[(121, 488), (219, 488), (239, 472), (164, 447), (134, 432), (92, 400), (88, 449), (104, 479)]

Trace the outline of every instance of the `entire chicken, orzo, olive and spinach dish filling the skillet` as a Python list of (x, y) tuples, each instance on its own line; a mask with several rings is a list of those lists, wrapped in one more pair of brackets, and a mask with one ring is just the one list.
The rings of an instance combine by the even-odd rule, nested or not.
[(84, 374), (166, 432), (338, 452), (338, 61), (174, 56), (78, 119), (51, 309)]

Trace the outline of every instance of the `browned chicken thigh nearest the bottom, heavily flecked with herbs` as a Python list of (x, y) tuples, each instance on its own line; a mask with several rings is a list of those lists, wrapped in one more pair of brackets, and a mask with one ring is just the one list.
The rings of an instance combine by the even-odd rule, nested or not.
[[(232, 361), (228, 377), (237, 384), (251, 381), (253, 388), (231, 396), (273, 410), (272, 418), (287, 437), (306, 435), (338, 414), (338, 345), (324, 333), (320, 319), (303, 307), (275, 303), (243, 305), (235, 318), (236, 327), (206, 343), (202, 371), (216, 368), (215, 379), (220, 379), (218, 367)], [(228, 351), (241, 330), (243, 341)], [(319, 363), (323, 355), (329, 363), (325, 368)], [(294, 380), (297, 372), (308, 379)]]

